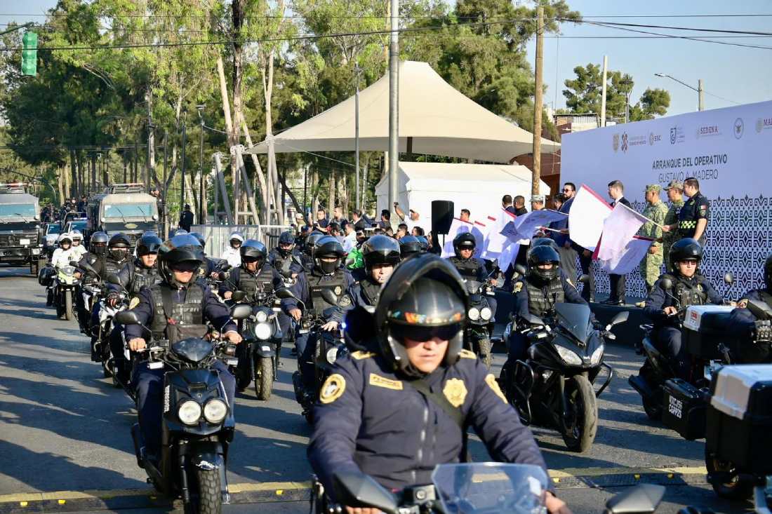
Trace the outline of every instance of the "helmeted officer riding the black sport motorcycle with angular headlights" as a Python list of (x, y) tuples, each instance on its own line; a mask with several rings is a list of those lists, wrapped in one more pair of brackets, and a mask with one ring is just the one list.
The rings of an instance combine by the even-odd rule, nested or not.
[(560, 272), (560, 254), (552, 245), (532, 245), (527, 253), (527, 263), (526, 276), (518, 279), (513, 288), (516, 328), (510, 333), (510, 353), (501, 370), (504, 384), (509, 384), (507, 373), (513, 369), (516, 360), (526, 357), (528, 340), (520, 329), (529, 314), (540, 318), (552, 316), (558, 303), (587, 305), (576, 287)]

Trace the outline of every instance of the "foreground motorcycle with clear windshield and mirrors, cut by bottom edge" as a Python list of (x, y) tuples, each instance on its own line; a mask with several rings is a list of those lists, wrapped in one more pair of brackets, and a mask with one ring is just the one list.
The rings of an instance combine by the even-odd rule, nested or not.
[[(391, 492), (369, 475), (338, 472), (333, 477), (334, 497), (327, 500), (318, 482), (312, 495), (317, 514), (344, 512), (342, 506), (370, 507), (385, 514), (535, 514), (547, 512), (549, 478), (534, 465), (479, 462), (441, 464), (432, 472), (432, 484)], [(640, 484), (606, 502), (604, 514), (655, 512), (665, 488)], [(313, 508), (313, 506), (312, 506)]]

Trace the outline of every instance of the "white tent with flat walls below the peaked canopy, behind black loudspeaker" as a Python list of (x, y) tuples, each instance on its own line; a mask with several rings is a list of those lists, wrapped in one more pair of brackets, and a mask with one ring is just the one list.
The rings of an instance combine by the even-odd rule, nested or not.
[[(432, 228), (432, 200), (453, 201), (455, 217), (469, 209), (472, 221), (486, 222), (501, 208), (505, 194), (522, 194), (526, 205), (530, 199), (531, 171), (525, 166), (504, 164), (445, 164), (400, 162), (397, 175), (397, 198), (405, 214), (413, 209), (420, 215), (415, 223), (425, 231)], [(550, 194), (543, 181), (539, 191)], [(378, 212), (388, 206), (388, 175), (375, 186)]]

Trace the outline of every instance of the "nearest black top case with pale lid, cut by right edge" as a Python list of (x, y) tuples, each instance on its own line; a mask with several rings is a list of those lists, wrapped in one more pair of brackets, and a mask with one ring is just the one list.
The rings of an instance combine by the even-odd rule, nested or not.
[(772, 475), (772, 365), (724, 366), (713, 377), (706, 446), (743, 472)]

